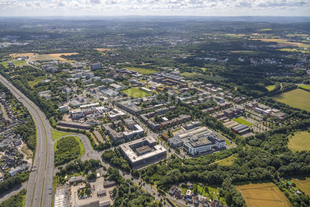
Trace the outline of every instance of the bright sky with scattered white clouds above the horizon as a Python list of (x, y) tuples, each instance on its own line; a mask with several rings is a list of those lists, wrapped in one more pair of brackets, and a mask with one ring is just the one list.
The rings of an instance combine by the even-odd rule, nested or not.
[(310, 0), (0, 0), (0, 16), (310, 16)]

